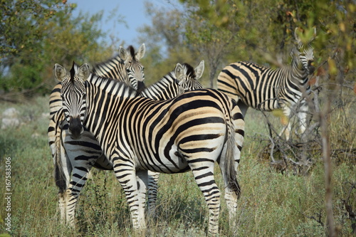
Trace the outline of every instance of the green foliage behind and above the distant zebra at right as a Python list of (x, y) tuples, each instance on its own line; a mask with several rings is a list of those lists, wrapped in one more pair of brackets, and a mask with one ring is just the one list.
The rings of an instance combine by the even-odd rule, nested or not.
[[(181, 0), (187, 13), (185, 33), (194, 50), (201, 51), (210, 68), (211, 86), (224, 65), (239, 60), (274, 63), (277, 56), (286, 62), (293, 46), (295, 27), (302, 28), (302, 41), (317, 28), (315, 62), (329, 57), (330, 64), (355, 80), (356, 32), (353, 1), (234, 1)], [(329, 60), (330, 62), (330, 60)], [(333, 61), (331, 61), (333, 62)], [(216, 70), (216, 72), (214, 71)], [(349, 73), (350, 72), (350, 73)]]

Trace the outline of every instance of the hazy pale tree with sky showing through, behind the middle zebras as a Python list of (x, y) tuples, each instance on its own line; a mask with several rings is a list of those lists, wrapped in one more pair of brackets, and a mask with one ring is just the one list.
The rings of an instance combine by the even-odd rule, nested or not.
[(152, 26), (140, 28), (140, 41), (147, 45), (147, 53), (142, 58), (146, 84), (155, 83), (172, 71), (177, 63), (189, 63), (197, 67), (204, 58), (187, 41), (184, 27), (186, 19), (182, 17), (182, 11), (177, 6), (157, 8), (148, 1), (145, 2), (145, 8), (152, 19)]

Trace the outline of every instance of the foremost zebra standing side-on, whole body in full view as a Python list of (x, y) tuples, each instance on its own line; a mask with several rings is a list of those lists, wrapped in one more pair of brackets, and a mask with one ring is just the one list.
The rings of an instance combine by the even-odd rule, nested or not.
[[(240, 186), (237, 167), (244, 142), (244, 119), (234, 100), (214, 89), (193, 90), (170, 100), (137, 96), (135, 90), (73, 64), (70, 75), (54, 66), (62, 82), (63, 111), (72, 139), (93, 133), (125, 191), (132, 226), (146, 228), (147, 170), (174, 174), (192, 170), (209, 207), (210, 235), (219, 227), (221, 169), (229, 218), (234, 220)], [(70, 191), (70, 190), (69, 190)]]

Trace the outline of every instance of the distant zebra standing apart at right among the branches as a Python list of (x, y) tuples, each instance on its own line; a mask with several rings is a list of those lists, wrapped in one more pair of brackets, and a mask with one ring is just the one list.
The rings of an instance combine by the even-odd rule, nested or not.
[[(244, 61), (231, 63), (219, 73), (217, 88), (230, 98), (239, 100), (238, 105), (244, 116), (248, 107), (261, 111), (281, 108), (283, 115), (290, 118), (292, 110), (299, 106), (296, 115), (299, 119), (300, 132), (303, 134), (308, 111), (308, 104), (303, 98), (303, 93), (310, 92), (308, 76), (315, 70), (312, 65), (313, 47), (310, 45), (315, 38), (315, 31), (314, 38), (303, 45), (297, 30), (298, 28), (295, 28), (295, 47), (290, 53), (291, 65), (273, 70)], [(290, 121), (283, 130), (288, 140), (291, 130)]]

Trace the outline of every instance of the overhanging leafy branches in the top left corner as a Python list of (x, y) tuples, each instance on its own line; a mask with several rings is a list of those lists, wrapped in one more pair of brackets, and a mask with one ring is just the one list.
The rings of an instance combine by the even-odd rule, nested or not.
[(11, 64), (11, 59), (21, 51), (37, 48), (48, 21), (66, 8), (60, 0), (1, 0), (1, 61)]

